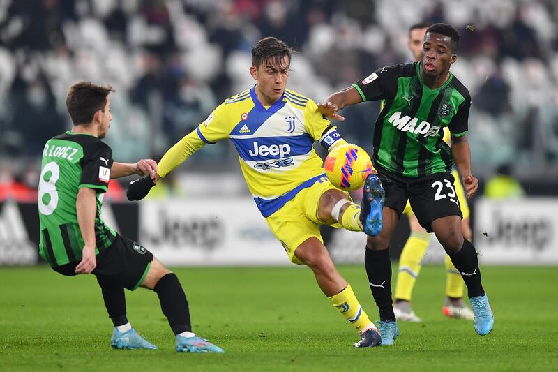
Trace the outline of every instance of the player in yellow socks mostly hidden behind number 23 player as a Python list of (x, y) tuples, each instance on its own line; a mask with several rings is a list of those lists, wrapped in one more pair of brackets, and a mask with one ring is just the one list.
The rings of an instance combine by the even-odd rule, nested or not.
[[(417, 23), (409, 27), (409, 40), (407, 46), (413, 54), (413, 61), (420, 61), (423, 52), (424, 34), (430, 27), (430, 23), (423, 22)], [(450, 144), (450, 132), (444, 128), (444, 142)], [(455, 193), (458, 194), (459, 204), (463, 219), (461, 220), (461, 229), (463, 230), (463, 237), (471, 241), (472, 231), (469, 220), (469, 206), (467, 205), (467, 198), (461, 186), (461, 181), (457, 170), (451, 172), (455, 181)], [(411, 204), (407, 201), (403, 213), (407, 214), (409, 218), (409, 227), (411, 228), (411, 235), (407, 243), (401, 251), (399, 258), (399, 269), (397, 282), (395, 283), (395, 304), (393, 306), (393, 313), (398, 320), (407, 322), (420, 322), (411, 306), (411, 297), (416, 283), (416, 278), (421, 272), (422, 260), (430, 244), (431, 234), (418, 223), (416, 216), (411, 208)], [(463, 301), (463, 290), (465, 283), (455, 269), (451, 259), (448, 255), (445, 258), (446, 265), (446, 303), (442, 307), (442, 313), (451, 318), (473, 320), (473, 312), (467, 307)]]

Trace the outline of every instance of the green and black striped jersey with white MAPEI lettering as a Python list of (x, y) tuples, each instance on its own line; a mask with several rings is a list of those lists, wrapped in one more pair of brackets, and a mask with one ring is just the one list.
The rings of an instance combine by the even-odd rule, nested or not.
[(443, 128), (454, 137), (467, 132), (467, 88), (450, 73), (442, 87), (429, 89), (418, 72), (420, 64), (382, 67), (353, 84), (363, 101), (384, 101), (374, 128), (372, 160), (400, 177), (451, 171), (453, 157)]

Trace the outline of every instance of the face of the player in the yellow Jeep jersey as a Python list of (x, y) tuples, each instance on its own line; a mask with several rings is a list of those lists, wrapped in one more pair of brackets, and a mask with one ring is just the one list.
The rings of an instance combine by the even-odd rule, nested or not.
[(280, 64), (275, 59), (269, 59), (258, 68), (250, 67), (250, 74), (256, 80), (258, 98), (263, 98), (264, 105), (271, 105), (282, 96), (289, 80), (289, 65), (289, 57), (285, 56)]

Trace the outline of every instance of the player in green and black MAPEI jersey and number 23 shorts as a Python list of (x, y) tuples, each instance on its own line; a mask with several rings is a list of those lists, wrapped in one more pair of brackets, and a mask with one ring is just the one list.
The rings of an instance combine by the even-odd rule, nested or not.
[[(407, 199), (428, 232), (434, 232), (453, 265), (460, 271), (474, 311), (478, 334), (492, 330), (494, 317), (488, 304), (474, 246), (463, 239), (462, 214), (453, 188), (455, 163), (467, 198), (478, 187), (471, 174), (467, 132), (471, 98), (467, 88), (450, 72), (459, 44), (458, 31), (448, 24), (433, 24), (425, 34), (421, 61), (382, 67), (351, 87), (338, 91), (319, 105), (331, 119), (343, 119), (338, 110), (365, 101), (384, 101), (374, 129), (372, 161), (382, 186), (365, 184), (365, 214), (382, 210), (382, 231), (366, 243), (365, 267), (370, 290), (379, 308), (382, 345), (399, 335), (391, 302), (391, 263), (388, 249), (395, 224)], [(442, 128), (451, 132), (451, 146)], [(382, 209), (383, 204), (383, 209)], [(370, 210), (370, 206), (372, 210)], [(368, 210), (367, 210), (368, 207)], [(368, 233), (368, 229), (365, 229)]]

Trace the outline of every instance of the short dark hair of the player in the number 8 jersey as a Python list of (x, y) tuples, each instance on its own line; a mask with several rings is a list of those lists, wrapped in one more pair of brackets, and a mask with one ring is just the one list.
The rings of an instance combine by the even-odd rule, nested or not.
[(66, 108), (73, 124), (89, 124), (98, 110), (104, 112), (111, 91), (114, 89), (110, 85), (97, 85), (83, 80), (74, 83), (66, 95)]

